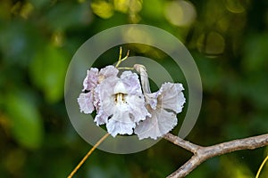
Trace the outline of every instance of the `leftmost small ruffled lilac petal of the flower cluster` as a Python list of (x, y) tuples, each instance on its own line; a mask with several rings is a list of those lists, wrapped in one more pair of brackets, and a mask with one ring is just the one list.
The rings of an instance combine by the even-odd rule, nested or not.
[(89, 114), (94, 111), (93, 105), (93, 93), (80, 93), (80, 97), (78, 98), (78, 102), (80, 105), (80, 112), (84, 112), (85, 114)]

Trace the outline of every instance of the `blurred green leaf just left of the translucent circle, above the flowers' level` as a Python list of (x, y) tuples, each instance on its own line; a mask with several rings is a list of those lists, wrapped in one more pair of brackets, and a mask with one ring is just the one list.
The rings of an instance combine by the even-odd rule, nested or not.
[(33, 83), (45, 93), (46, 100), (49, 102), (56, 102), (63, 98), (67, 59), (62, 51), (47, 45), (30, 63), (30, 77)]

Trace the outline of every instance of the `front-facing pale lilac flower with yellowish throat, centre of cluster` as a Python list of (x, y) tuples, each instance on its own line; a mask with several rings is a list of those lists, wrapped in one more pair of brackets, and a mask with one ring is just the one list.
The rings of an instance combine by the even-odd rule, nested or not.
[(138, 75), (130, 71), (97, 85), (96, 98), (99, 101), (96, 125), (106, 123), (108, 133), (113, 136), (132, 134), (136, 124), (149, 116)]

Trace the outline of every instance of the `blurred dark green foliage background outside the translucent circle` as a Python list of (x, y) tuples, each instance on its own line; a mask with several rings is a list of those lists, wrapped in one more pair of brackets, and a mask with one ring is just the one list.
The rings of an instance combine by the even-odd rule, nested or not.
[[(205, 146), (267, 133), (268, 1), (2, 0), (0, 177), (71, 173), (91, 146), (66, 113), (66, 69), (90, 36), (129, 23), (172, 33), (197, 62), (204, 99), (189, 141)], [(118, 48), (107, 57), (117, 59)], [(267, 154), (262, 148), (212, 158), (188, 177), (253, 177)], [(76, 177), (165, 177), (190, 157), (164, 140), (130, 155), (96, 150)]]

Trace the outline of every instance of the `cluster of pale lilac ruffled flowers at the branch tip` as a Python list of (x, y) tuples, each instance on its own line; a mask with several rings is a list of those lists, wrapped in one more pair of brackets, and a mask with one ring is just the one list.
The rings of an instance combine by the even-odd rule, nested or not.
[(137, 134), (138, 139), (167, 134), (177, 125), (176, 114), (185, 102), (181, 84), (164, 83), (159, 91), (151, 93), (145, 66), (123, 71), (114, 66), (91, 68), (83, 82), (78, 102), (80, 111), (90, 114), (96, 110), (96, 125), (106, 125), (113, 137), (117, 134)]

